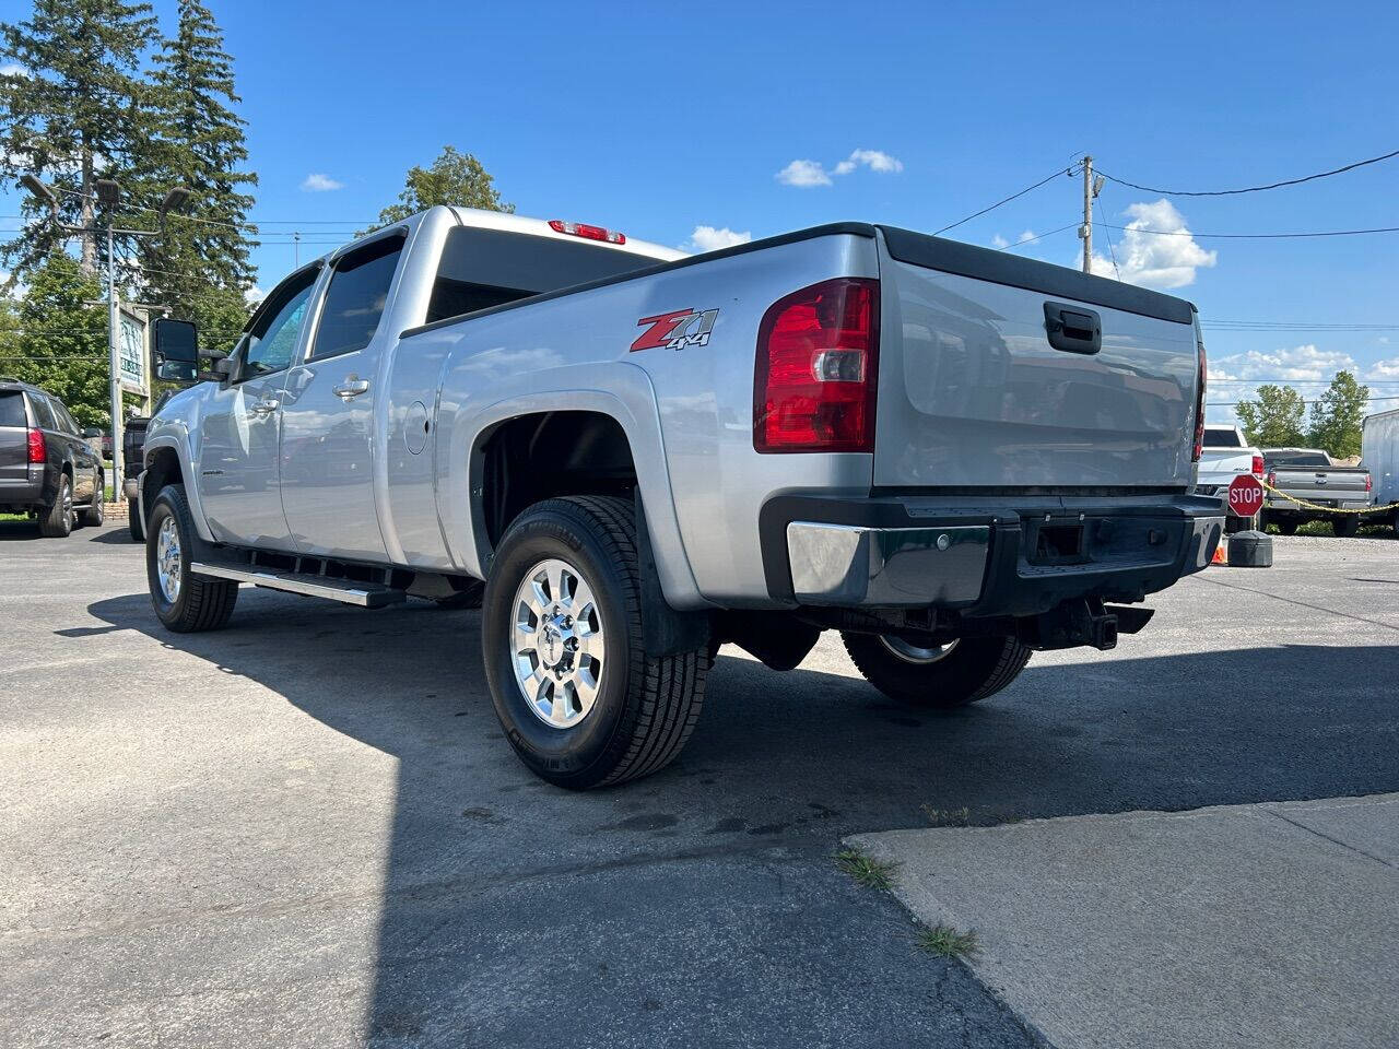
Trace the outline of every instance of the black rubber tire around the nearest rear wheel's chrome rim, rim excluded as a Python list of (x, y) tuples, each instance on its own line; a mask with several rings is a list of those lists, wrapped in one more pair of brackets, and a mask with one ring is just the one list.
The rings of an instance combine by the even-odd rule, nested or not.
[[(667, 656), (642, 648), (642, 582), (634, 506), (627, 499), (574, 497), (536, 504), (501, 541), (485, 583), (485, 678), (495, 713), (515, 752), (537, 776), (583, 790), (651, 775), (674, 761), (704, 705), (708, 638)], [(578, 569), (600, 613), (604, 652), (597, 694), (576, 726), (536, 716), (513, 666), (515, 596), (547, 559)], [(652, 615), (676, 615), (669, 607)], [(662, 624), (660, 635), (670, 631)], [(578, 656), (574, 656), (578, 659)]]

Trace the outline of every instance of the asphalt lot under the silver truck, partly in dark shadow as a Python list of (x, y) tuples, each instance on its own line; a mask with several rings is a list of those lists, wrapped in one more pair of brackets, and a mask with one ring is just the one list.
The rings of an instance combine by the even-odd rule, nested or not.
[(476, 613), (245, 590), (175, 636), (125, 527), (0, 524), (0, 1045), (1039, 1045), (831, 853), (1399, 790), (1399, 543), (1276, 557), (947, 718), (831, 635), (726, 649), (677, 765), (569, 794), (501, 737)]

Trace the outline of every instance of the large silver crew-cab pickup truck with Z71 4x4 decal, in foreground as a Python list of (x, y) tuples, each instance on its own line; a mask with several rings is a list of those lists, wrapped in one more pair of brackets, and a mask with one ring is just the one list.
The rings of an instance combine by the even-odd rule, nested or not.
[(684, 257), (435, 207), (287, 277), (151, 420), (151, 599), (478, 603), (520, 758), (617, 783), (725, 642), (789, 670), (837, 629), (954, 708), (1139, 631), (1223, 530), (1203, 373), (1188, 302), (904, 229)]

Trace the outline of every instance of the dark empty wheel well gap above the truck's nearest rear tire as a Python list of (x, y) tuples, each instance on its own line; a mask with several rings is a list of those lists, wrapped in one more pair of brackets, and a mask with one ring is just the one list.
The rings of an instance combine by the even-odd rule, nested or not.
[(527, 506), (560, 495), (623, 495), (637, 464), (621, 424), (597, 411), (520, 415), (497, 427), (480, 449), (478, 523), (494, 548)]

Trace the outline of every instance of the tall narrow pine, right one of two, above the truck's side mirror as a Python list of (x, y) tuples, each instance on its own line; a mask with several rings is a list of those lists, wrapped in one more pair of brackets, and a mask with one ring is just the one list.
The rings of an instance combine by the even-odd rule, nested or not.
[(152, 200), (176, 185), (189, 187), (190, 200), (161, 236), (141, 241), (143, 299), (172, 306), (200, 324), (206, 345), (220, 345), (246, 317), (253, 199), (245, 189), (257, 176), (241, 171), (246, 122), (234, 109), (234, 64), (203, 3), (180, 0), (179, 27), (155, 55), (151, 81), (159, 138), (139, 178)]

